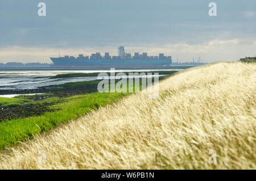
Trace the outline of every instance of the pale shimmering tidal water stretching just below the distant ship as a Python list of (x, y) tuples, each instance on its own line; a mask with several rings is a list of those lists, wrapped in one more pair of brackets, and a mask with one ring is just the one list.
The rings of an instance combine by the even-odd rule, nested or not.
[[(183, 70), (180, 68), (164, 68), (164, 69), (118, 69), (115, 71), (163, 71), (163, 70)], [(75, 77), (75, 78), (58, 78), (50, 79), (57, 74), (65, 73), (100, 73), (110, 71), (110, 69), (81, 69), (81, 68), (5, 68), (0, 69), (0, 90), (14, 89), (37, 89), (41, 86), (60, 85), (66, 82), (93, 81), (97, 77)], [(148, 77), (148, 75), (146, 76)], [(118, 78), (118, 77), (116, 77)], [(3, 95), (2, 95), (3, 96)]]

